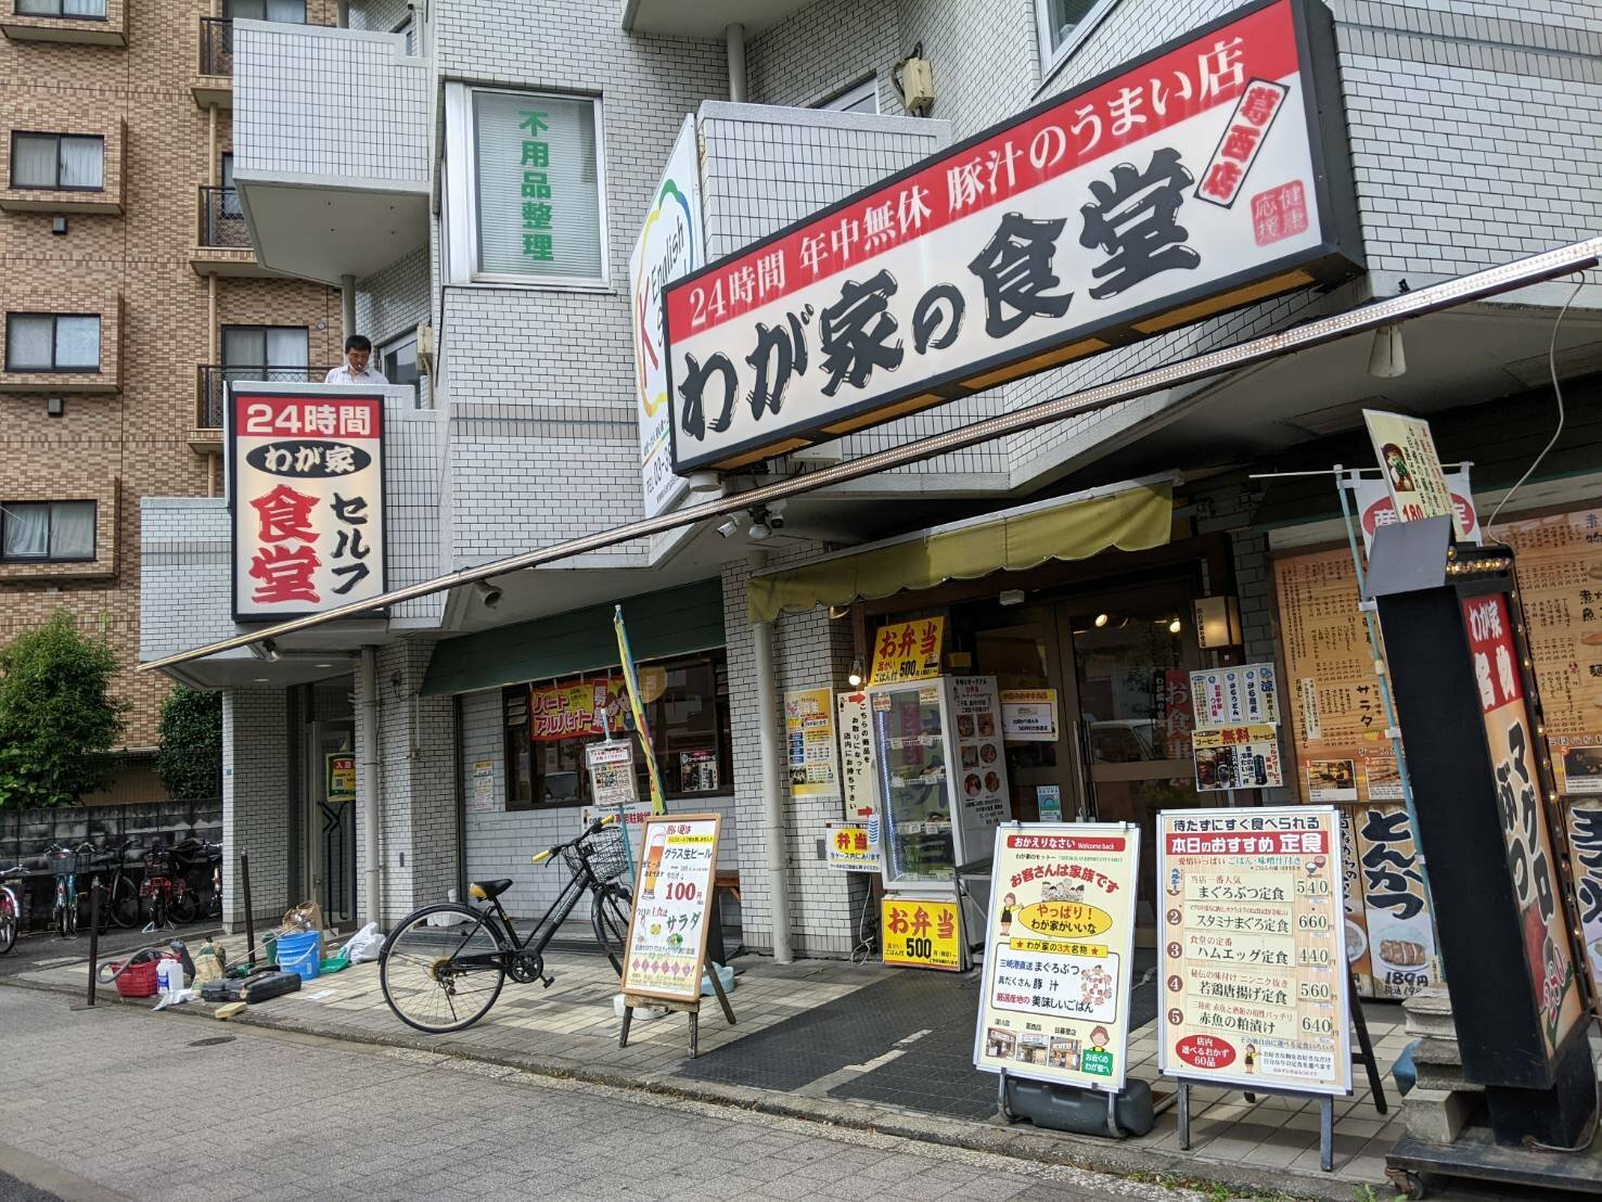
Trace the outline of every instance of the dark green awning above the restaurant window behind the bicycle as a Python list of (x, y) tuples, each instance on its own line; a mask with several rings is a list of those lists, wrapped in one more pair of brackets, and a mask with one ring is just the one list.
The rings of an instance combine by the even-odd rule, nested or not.
[[(723, 582), (700, 580), (622, 599), (638, 660), (724, 644)], [(434, 647), (423, 692), (449, 696), (617, 667), (612, 603), (450, 638)]]

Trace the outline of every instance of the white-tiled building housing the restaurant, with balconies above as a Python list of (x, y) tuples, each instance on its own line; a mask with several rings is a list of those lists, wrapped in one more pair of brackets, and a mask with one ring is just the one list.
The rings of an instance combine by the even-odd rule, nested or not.
[[(647, 313), (654, 268), (657, 282), (710, 264), (721, 266), (697, 279), (735, 272), (742, 252), (782, 248), (782, 232), (801, 239), (807, 231), (795, 223), (825, 210), (851, 216), (846, 202), (867, 204), (863, 189), (912, 179), (953, 147), (982, 155), (993, 128), (1054, 103), (1070, 104), (1064, 128), (1081, 141), (1117, 122), (1123, 131), (1158, 122), (1158, 109), (1203, 90), (1238, 103), (1248, 80), (1226, 75), (1234, 38), (1246, 37), (1242, 21), (1299, 30), (1274, 45), (1307, 61), (1312, 83), (1286, 72), (1283, 95), (1312, 106), (1302, 127), (1322, 159), (1302, 178), (1318, 179), (1318, 220), (1338, 255), (1304, 260), (1301, 277), (1242, 284), (1253, 295), (1214, 290), (1179, 309), (1171, 274), (1169, 292), (1157, 284), (1147, 293), (1168, 308), (1131, 319), (1145, 329), (1123, 327), (1073, 354), (1045, 346), (1022, 373), (976, 377), (969, 362), (968, 375), (942, 377), (942, 391), (907, 397), (900, 415), (879, 412), (888, 420), (878, 425), (836, 413), (831, 433), (825, 423), (747, 462), (735, 462), (735, 447), (681, 473), (654, 471), (662, 413), (681, 463), (697, 458), (686, 449), (700, 438), (676, 391), (689, 364), (674, 364), (671, 399), (650, 375), (670, 349)], [(1536, 14), (1483, 0), (436, 0), (405, 11), (351, 3), (343, 24), (235, 26), (235, 183), (261, 261), (344, 280), (364, 332), (418, 340), (421, 388), (380, 394), (389, 587), (955, 430), (1602, 226), (1591, 122), (1602, 106), (1602, 16), (1584, 3), (1554, 0)], [(907, 96), (910, 59), (929, 69), (932, 95)], [(1152, 64), (1168, 74), (1136, 80)], [(1139, 83), (1142, 107), (1125, 96), (1121, 115), (1094, 111), (1096, 88), (1120, 80)], [(1075, 117), (1080, 107), (1089, 114)], [(1104, 287), (1105, 269), (1094, 274), (1102, 264), (1081, 252), (1112, 253), (1117, 239), (1085, 208), (1110, 221), (1105, 196), (1166, 162), (1145, 147), (1131, 157), (1126, 171), (1109, 157), (1101, 189), (1086, 186), (1048, 215), (1069, 231), (1057, 244), (1061, 288), (1054, 279), (1027, 293), (1028, 321), (1053, 319), (1041, 301), (1057, 301), (1061, 319), (1064, 292), (1080, 296), (1078, 313)], [(939, 160), (937, 176), (961, 165)], [(1168, 210), (1181, 226), (1214, 220), (1200, 216), (1193, 191), (1205, 165), (1182, 163), (1192, 191)], [(1272, 212), (1258, 248), (1307, 232), (1299, 197), (1291, 189), (1264, 202)], [(663, 229), (679, 234), (654, 244)], [(1187, 237), (1181, 229), (1165, 247)], [(1246, 228), (1237, 250), (1251, 245)], [(958, 264), (968, 288), (977, 287), (977, 250), (940, 260)], [(1168, 263), (1181, 274), (1197, 266), (1184, 253)], [(812, 274), (844, 296), (843, 280), (859, 288), (871, 271)], [(969, 324), (980, 322), (977, 295), (964, 301)], [(904, 346), (886, 340), (889, 357), (910, 362), (944, 333), (956, 338), (956, 319), (937, 306), (915, 322), (916, 298), (892, 313)], [(1514, 303), (1410, 322), (1405, 364), (1395, 340), (1339, 343), (838, 484), (783, 510), (751, 506), (718, 529), (506, 572), (482, 588), (400, 601), (384, 619), (168, 670), (224, 689), (224, 824), (234, 851), (261, 869), (264, 912), (317, 896), (330, 914), (388, 922), (466, 880), (511, 877), (503, 901), (538, 915), (559, 881), (530, 870), (527, 856), (577, 830), (588, 801), (583, 744), (609, 721), (596, 707), (610, 700), (596, 699), (615, 691), (612, 607), (622, 603), (668, 806), (724, 816), (721, 867), (739, 880), (745, 942), (846, 955), (873, 928), (878, 878), (827, 862), (827, 824), (852, 814), (838, 789), (807, 787), (804, 766), (785, 771), (787, 694), (851, 697), (886, 628), (939, 619), (942, 673), (1053, 697), (1045, 734), (1003, 740), (1006, 776), (985, 766), (969, 797), (1022, 819), (1061, 811), (1142, 827), (1158, 808), (1205, 803), (1216, 780), (1192, 758), (1195, 715), (1176, 684), (1190, 670), (1238, 662), (1278, 664), (1288, 676), (1302, 601), (1285, 563), (1344, 545), (1334, 476), (1253, 474), (1365, 462), (1362, 410), (1389, 405), (1429, 415), (1443, 455), (1474, 460), (1472, 498), (1495, 505), (1540, 449), (1533, 431), (1548, 428), (1546, 356), (1565, 300), (1556, 370), (1575, 396), (1594, 396), (1602, 293), (1594, 279), (1578, 290), (1540, 285)], [(817, 308), (798, 301), (785, 327), (811, 340), (812, 367), (799, 367), (795, 343), (790, 367), (815, 389), (833, 370), (819, 373)], [(697, 354), (698, 370), (711, 359)], [(732, 351), (724, 359), (739, 383), (719, 417), (706, 404), (702, 418), (734, 428), (759, 415), (748, 401), (764, 385), (739, 375)], [(878, 370), (905, 369), (897, 357)], [(791, 383), (793, 396), (803, 385)], [(1594, 505), (1596, 434), (1592, 422), (1572, 420), (1509, 513)], [(234, 620), (234, 518), (223, 498), (151, 498), (144, 519), (146, 545), (170, 551), (146, 566), (144, 660), (261, 628)], [(1355, 596), (1350, 609), (1355, 617)], [(1221, 631), (1203, 633), (1205, 614), (1221, 615)], [(1330, 697), (1350, 692), (1339, 684)], [(1243, 803), (1306, 798), (1309, 756), (1336, 758), (1291, 742), (1298, 721), (1309, 728), (1288, 691), (1290, 768), (1283, 784), (1237, 790)], [(583, 734), (548, 720), (575, 710), (590, 715)], [(376, 731), (367, 745), (362, 713)], [(352, 747), (359, 805), (341, 808), (324, 761)], [(879, 769), (891, 789), (896, 772)], [(1379, 805), (1386, 793), (1354, 787), (1349, 800)], [(912, 833), (944, 837), (950, 857), (961, 805), (920, 814)], [(372, 829), (362, 814), (376, 814)], [(1144, 894), (1149, 875), (1150, 865)], [(237, 915), (240, 899), (227, 906)], [(1149, 904), (1142, 925), (1152, 926)]]

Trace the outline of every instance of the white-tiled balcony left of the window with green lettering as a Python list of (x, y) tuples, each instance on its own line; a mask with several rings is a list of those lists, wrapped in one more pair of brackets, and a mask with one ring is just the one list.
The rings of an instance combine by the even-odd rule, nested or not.
[(235, 21), (234, 183), (256, 261), (338, 284), (428, 245), (429, 72), (402, 34)]

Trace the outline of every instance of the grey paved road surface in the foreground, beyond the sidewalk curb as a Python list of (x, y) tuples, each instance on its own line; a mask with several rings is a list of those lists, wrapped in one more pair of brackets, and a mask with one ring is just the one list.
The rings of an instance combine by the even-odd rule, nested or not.
[[(0, 989), (0, 1197), (1193, 1199), (409, 1048)], [(221, 1040), (221, 1042), (218, 1042)], [(85, 1104), (85, 1099), (95, 1099)]]

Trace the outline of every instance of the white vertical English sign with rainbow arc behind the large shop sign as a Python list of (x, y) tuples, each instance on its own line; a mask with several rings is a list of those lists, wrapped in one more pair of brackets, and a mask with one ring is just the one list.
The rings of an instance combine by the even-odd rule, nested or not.
[(639, 409), (639, 479), (646, 516), (655, 518), (684, 495), (689, 481), (673, 474), (668, 404), (666, 316), (662, 303), (670, 280), (706, 263), (700, 210), (700, 155), (695, 117), (684, 119), (628, 258), (630, 321), (634, 330), (634, 404)]

